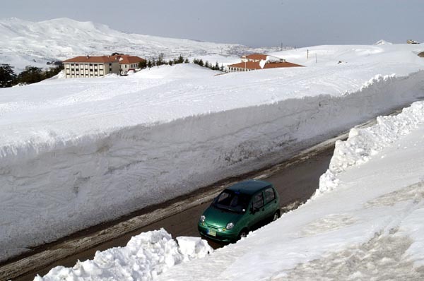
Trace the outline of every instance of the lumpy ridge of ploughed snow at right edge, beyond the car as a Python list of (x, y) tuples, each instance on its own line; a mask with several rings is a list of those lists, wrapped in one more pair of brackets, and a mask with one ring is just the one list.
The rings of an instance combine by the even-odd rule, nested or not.
[(411, 133), (424, 122), (424, 102), (415, 102), (396, 116), (379, 116), (370, 128), (352, 128), (348, 140), (336, 142), (330, 167), (319, 179), (319, 189), (314, 196), (331, 191), (339, 184), (337, 174), (348, 167), (361, 165), (380, 150)]

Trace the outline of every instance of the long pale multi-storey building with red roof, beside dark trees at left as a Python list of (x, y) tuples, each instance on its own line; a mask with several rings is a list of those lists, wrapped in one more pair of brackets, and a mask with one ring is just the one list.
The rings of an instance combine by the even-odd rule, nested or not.
[(95, 78), (110, 73), (126, 75), (145, 61), (127, 54), (115, 56), (76, 56), (63, 62), (66, 78)]

